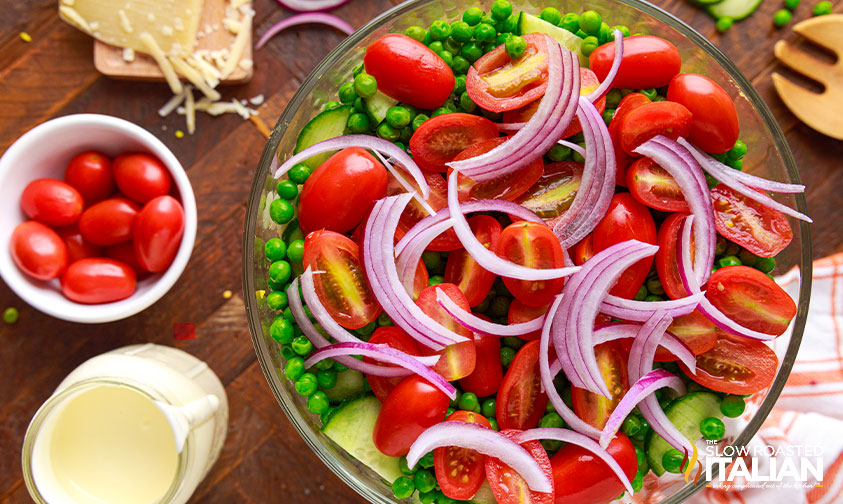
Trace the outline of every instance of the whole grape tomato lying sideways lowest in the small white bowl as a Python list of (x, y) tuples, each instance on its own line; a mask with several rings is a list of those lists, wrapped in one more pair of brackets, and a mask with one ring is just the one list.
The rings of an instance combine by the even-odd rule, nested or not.
[(112, 303), (135, 293), (137, 279), (125, 263), (102, 257), (80, 259), (61, 276), (61, 290), (82, 304)]

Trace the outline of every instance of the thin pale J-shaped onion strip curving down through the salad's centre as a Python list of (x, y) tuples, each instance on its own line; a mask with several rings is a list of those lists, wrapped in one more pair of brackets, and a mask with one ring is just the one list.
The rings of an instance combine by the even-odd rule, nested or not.
[[(504, 144), (509, 142), (504, 142)], [(561, 278), (579, 271), (579, 267), (573, 268), (551, 268), (551, 269), (536, 269), (528, 268), (512, 261), (507, 261), (502, 257), (486, 248), (480, 243), (480, 240), (474, 236), (468, 221), (463, 215), (463, 210), (457, 199), (457, 177), (459, 172), (454, 170), (448, 176), (448, 210), (451, 213), (451, 220), (454, 223), (454, 232), (457, 234), (462, 246), (465, 247), (466, 252), (479, 264), (483, 269), (507, 278), (515, 278), (517, 280), (552, 280), (554, 278)]]

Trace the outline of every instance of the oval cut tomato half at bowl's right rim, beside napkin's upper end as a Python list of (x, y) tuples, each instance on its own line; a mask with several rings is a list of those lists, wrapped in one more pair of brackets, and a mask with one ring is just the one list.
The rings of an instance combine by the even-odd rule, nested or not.
[(793, 298), (749, 266), (726, 266), (712, 273), (705, 297), (738, 324), (765, 334), (784, 333), (796, 316)]

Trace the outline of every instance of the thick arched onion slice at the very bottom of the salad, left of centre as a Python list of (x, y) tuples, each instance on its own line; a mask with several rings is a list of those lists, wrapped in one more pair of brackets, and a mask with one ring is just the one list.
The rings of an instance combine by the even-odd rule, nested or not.
[(422, 432), (410, 447), (407, 465), (412, 469), (425, 454), (445, 446), (466, 448), (499, 459), (521, 475), (530, 490), (553, 491), (553, 485), (530, 452), (500, 432), (466, 422), (442, 422)]

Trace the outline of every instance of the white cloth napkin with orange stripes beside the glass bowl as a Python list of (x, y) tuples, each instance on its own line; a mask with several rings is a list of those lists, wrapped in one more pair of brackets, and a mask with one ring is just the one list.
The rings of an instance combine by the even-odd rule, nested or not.
[[(778, 473), (785, 464), (801, 468), (803, 455), (813, 466), (822, 459), (822, 481), (810, 471), (807, 480), (786, 476), (780, 482), (748, 481), (738, 476), (731, 482), (712, 482), (687, 502), (843, 504), (843, 253), (814, 262), (813, 275), (808, 320), (796, 363), (776, 407), (749, 443), (750, 456), (744, 461), (750, 469), (757, 464), (757, 474), (769, 475), (771, 464)], [(798, 270), (776, 281), (798, 298)], [(788, 332), (771, 343), (780, 360), (789, 341)], [(762, 394), (749, 398), (744, 415), (726, 419), (727, 436), (743, 430), (762, 399)], [(770, 455), (773, 451), (775, 455)], [(630, 501), (655, 504), (684, 485), (680, 475), (657, 480), (650, 473), (643, 490)]]

